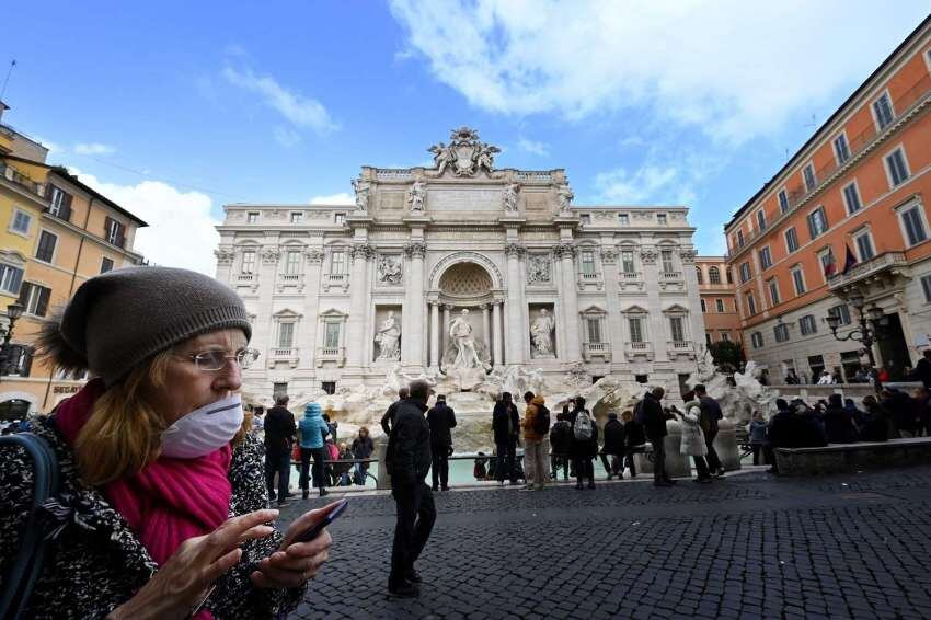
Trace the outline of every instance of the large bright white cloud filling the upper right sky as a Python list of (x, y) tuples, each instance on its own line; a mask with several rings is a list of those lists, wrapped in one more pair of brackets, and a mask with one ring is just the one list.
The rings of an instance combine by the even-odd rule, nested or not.
[(392, 0), (391, 10), (405, 53), (484, 110), (579, 119), (650, 107), (739, 142), (863, 80), (927, 1), (900, 0), (881, 20), (869, 0)]

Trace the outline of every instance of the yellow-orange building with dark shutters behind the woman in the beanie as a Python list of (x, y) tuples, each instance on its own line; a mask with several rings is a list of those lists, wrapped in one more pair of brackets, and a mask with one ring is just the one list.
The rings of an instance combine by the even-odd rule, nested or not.
[[(34, 364), (33, 340), (42, 322), (64, 306), (81, 283), (142, 263), (133, 242), (136, 230), (147, 225), (64, 168), (0, 153), (0, 169), (14, 171), (0, 176), (0, 198), (7, 195), (14, 200), (10, 222), (30, 217), (24, 228), (27, 246), (15, 252), (19, 263), (8, 267), (19, 274), (15, 282), (8, 278), (15, 287), (11, 284), (5, 291), (18, 299), (23, 314), (13, 326), (10, 361), (0, 376), (2, 418), (23, 410), (46, 413), (83, 384), (83, 378), (66, 378), (54, 368)], [(0, 308), (5, 311), (5, 306)]]

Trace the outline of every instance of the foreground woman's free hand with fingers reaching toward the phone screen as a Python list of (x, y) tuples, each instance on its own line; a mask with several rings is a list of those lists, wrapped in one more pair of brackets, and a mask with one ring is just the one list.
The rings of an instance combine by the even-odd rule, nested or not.
[(156, 576), (136, 596), (114, 609), (107, 620), (184, 618), (214, 582), (239, 562), (240, 544), (275, 531), (263, 524), (277, 516), (278, 510), (255, 510), (228, 519), (208, 535), (188, 538)]

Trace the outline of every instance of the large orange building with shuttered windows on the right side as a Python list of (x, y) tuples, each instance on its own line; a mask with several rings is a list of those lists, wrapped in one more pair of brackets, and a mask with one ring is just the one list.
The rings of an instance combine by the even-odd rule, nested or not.
[(866, 359), (901, 377), (931, 334), (931, 18), (725, 226), (748, 359), (850, 379)]

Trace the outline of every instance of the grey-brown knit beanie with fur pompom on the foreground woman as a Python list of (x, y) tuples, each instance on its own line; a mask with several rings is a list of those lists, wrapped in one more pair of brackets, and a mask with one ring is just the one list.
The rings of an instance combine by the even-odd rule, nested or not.
[(242, 299), (222, 283), (170, 267), (127, 267), (82, 284), (39, 349), (59, 368), (90, 370), (107, 386), (137, 364), (207, 332), (252, 326)]

